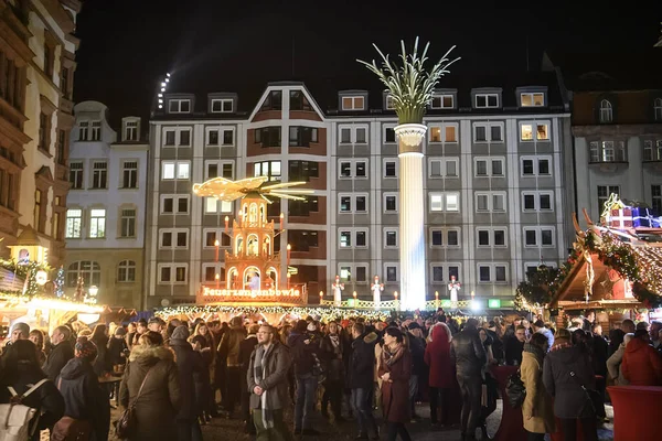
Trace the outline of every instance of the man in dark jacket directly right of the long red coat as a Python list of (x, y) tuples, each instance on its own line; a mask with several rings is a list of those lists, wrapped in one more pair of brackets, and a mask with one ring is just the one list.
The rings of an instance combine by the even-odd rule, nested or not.
[(465, 329), (452, 337), (450, 357), (455, 359), (458, 384), (462, 395), (461, 432), (463, 440), (476, 439), (480, 418), (481, 368), (487, 355), (478, 334), (478, 321), (469, 319)]

